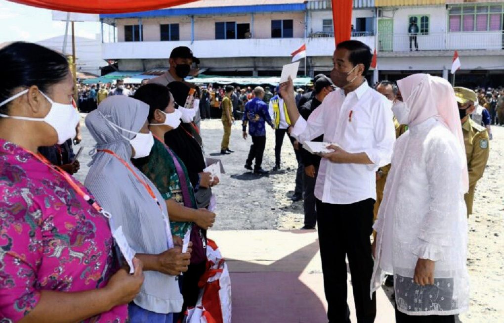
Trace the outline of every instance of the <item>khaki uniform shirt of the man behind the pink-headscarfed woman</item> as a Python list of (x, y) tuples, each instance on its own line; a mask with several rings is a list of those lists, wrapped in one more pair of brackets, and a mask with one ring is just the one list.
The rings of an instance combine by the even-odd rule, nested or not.
[(467, 205), (467, 216), (472, 214), (476, 183), (483, 176), (490, 151), (488, 131), (470, 118), (462, 125), (464, 144), (466, 146), (467, 170), (469, 171), (469, 192), (464, 196)]

